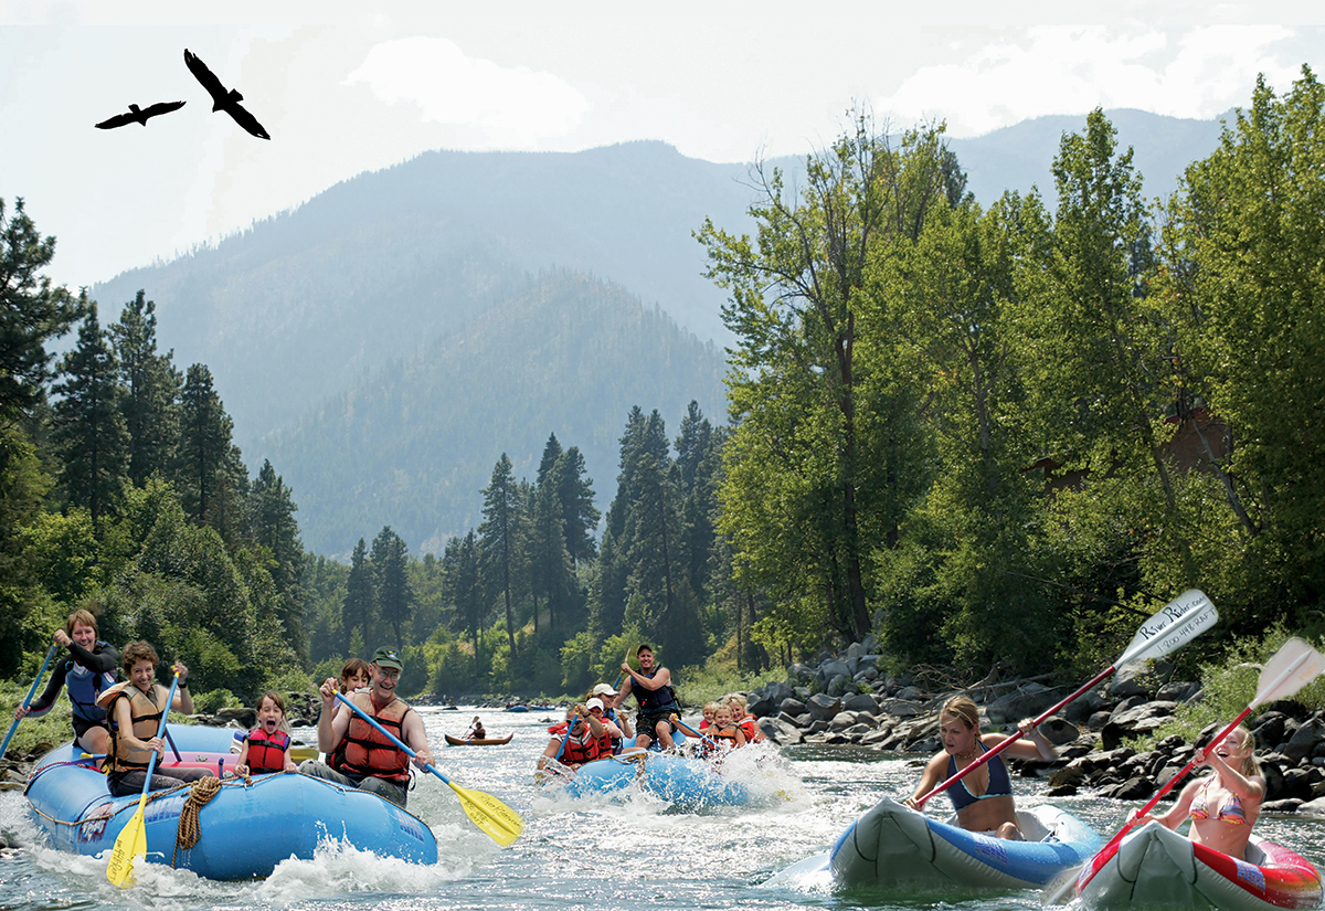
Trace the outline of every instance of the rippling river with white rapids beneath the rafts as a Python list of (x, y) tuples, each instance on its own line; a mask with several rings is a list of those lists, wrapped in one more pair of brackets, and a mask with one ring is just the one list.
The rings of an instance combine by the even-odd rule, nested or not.
[[(839, 895), (812, 885), (762, 886), (778, 870), (827, 850), (880, 796), (909, 793), (920, 775), (914, 756), (852, 747), (790, 747), (782, 749), (783, 769), (761, 779), (761, 787), (770, 789), (766, 805), (678, 813), (643, 794), (623, 802), (587, 802), (559, 800), (537, 788), (534, 761), (547, 743), (546, 726), (554, 712), (423, 708), (420, 714), (440, 769), (460, 785), (500, 797), (525, 817), (525, 834), (513, 847), (494, 845), (469, 822), (447, 785), (421, 775), (409, 796), (409, 809), (437, 837), (441, 861), (435, 866), (329, 846), (311, 861), (286, 861), (261, 882), (211, 882), (140, 863), (135, 867), (136, 885), (121, 890), (106, 881), (106, 858), (46, 847), (23, 794), (3, 792), (0, 830), (19, 847), (0, 855), (0, 911), (1040, 907), (1039, 892), (1034, 891), (945, 898)], [(441, 735), (464, 734), (474, 714), (482, 714), (489, 736), (514, 734), (511, 743), (488, 748), (444, 745)], [(313, 731), (295, 735), (314, 742)], [(742, 775), (743, 769), (731, 773)], [(1040, 783), (1023, 779), (1014, 779), (1014, 789), (1023, 802), (1036, 802), (1043, 793)], [(1124, 805), (1112, 800), (1068, 797), (1053, 802), (1105, 837), (1124, 817)], [(1325, 834), (1317, 824), (1267, 816), (1256, 832), (1317, 865), (1325, 862)], [(261, 838), (262, 833), (254, 832), (253, 837)]]

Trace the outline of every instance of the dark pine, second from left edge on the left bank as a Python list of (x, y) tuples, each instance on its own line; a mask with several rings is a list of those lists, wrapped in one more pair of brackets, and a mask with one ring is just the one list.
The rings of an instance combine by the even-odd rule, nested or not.
[(97, 320), (97, 305), (86, 305), (87, 316), (78, 330), (78, 344), (61, 361), (62, 380), (54, 392), (53, 432), (62, 457), (60, 485), (66, 501), (91, 515), (101, 534), (125, 485), (129, 434), (119, 413), (122, 389), (115, 355)]

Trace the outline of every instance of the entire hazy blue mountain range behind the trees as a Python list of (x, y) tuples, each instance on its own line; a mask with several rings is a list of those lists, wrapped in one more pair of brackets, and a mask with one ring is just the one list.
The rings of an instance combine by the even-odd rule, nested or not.
[[(1218, 120), (1109, 111), (1146, 192), (1177, 187)], [(950, 142), (982, 203), (1039, 187), (1081, 117)], [(794, 185), (800, 159), (774, 160)], [(270, 458), (310, 550), (392, 526), (440, 551), (476, 526), (505, 452), (530, 477), (550, 433), (579, 446), (599, 507), (632, 405), (676, 430), (690, 400), (725, 420), (722, 289), (705, 217), (753, 229), (747, 164), (659, 142), (574, 154), (435, 151), (358, 175), (215, 246), (97, 285), (103, 319), (138, 289), (175, 363), (205, 363), (236, 442)]]

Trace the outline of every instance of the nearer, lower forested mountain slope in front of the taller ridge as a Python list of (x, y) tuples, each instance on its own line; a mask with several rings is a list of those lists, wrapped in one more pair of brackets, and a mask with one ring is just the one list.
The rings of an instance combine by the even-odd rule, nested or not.
[(392, 361), (262, 445), (297, 491), (305, 546), (346, 555), (390, 524), (440, 551), (482, 516), (506, 453), (533, 479), (549, 434), (579, 446), (600, 498), (616, 485), (632, 405), (678, 425), (697, 400), (721, 420), (722, 354), (619, 287), (547, 275)]

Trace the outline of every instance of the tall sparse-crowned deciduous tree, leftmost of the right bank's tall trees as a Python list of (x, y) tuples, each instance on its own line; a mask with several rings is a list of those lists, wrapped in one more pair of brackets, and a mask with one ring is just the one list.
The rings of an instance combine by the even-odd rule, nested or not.
[[(784, 587), (787, 567), (796, 567), (784, 604), (818, 605), (839, 634), (861, 640), (872, 622), (864, 542), (896, 543), (906, 487), (897, 467), (908, 463), (896, 452), (881, 461), (863, 453), (861, 429), (882, 425), (874, 440), (906, 440), (905, 428), (888, 425), (908, 421), (914, 408), (886, 377), (861, 372), (857, 312), (873, 262), (914, 240), (937, 200), (957, 201), (965, 176), (941, 130), (909, 132), (893, 150), (860, 118), (810, 158), (799, 199), (787, 197), (776, 169), (754, 177), (757, 240), (712, 221), (698, 233), (708, 275), (731, 291), (723, 320), (737, 336), (729, 389), (739, 424), (723, 499), (754, 506), (738, 518), (733, 511), (726, 528), (743, 571)], [(871, 381), (880, 403), (863, 399)], [(750, 470), (731, 463), (747, 459)], [(863, 530), (863, 519), (874, 527)]]

